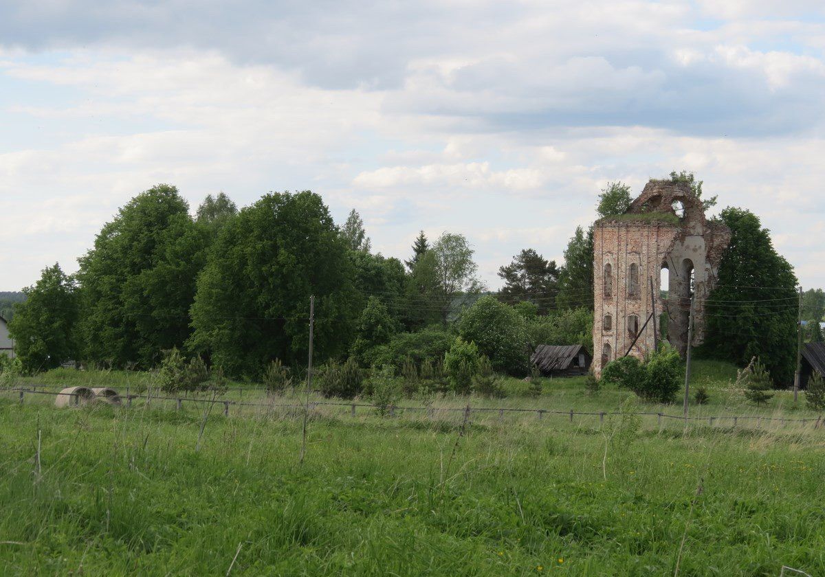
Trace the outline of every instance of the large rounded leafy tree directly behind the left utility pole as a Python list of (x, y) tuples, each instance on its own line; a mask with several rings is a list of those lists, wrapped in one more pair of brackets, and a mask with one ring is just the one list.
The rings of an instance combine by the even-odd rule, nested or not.
[(348, 251), (320, 196), (263, 196), (210, 251), (191, 308), (191, 348), (237, 376), (256, 376), (273, 359), (303, 365), (314, 295), (317, 360), (342, 354), (359, 312)]

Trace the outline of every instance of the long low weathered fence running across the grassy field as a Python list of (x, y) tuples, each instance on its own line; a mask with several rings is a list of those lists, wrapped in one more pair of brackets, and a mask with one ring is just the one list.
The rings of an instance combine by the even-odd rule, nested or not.
[[(22, 404), (24, 402), (26, 395), (45, 395), (45, 396), (77, 396), (76, 393), (73, 392), (53, 392), (53, 391), (38, 391), (36, 388), (23, 388), (23, 387), (7, 387), (0, 390), (0, 392), (11, 393), (12, 395), (16, 393), (18, 395), (19, 402)], [(127, 407), (132, 406), (132, 401), (134, 400), (144, 400), (146, 403), (151, 404), (152, 401), (175, 401), (176, 409), (181, 410), (183, 406), (183, 402), (186, 401), (187, 403), (206, 403), (212, 405), (223, 405), (224, 406), (224, 415), (229, 416), (229, 407), (230, 406), (237, 406), (237, 407), (260, 407), (265, 409), (303, 409), (304, 404), (301, 403), (276, 403), (276, 402), (249, 402), (249, 401), (227, 401), (220, 398), (197, 398), (194, 396), (162, 396), (162, 395), (135, 395), (135, 394), (127, 394), (122, 396), (121, 398), (125, 399), (125, 405)], [(539, 419), (543, 419), (544, 415), (564, 415), (568, 416), (569, 420), (573, 422), (576, 416), (597, 416), (599, 417), (599, 421), (604, 422), (606, 416), (610, 415), (621, 415), (623, 414), (621, 411), (618, 410), (602, 410), (602, 411), (580, 411), (580, 410), (553, 410), (553, 409), (525, 409), (525, 408), (518, 408), (518, 407), (472, 407), (472, 406), (464, 406), (464, 407), (432, 407), (432, 406), (400, 406), (400, 405), (389, 405), (389, 406), (380, 406), (374, 405), (371, 403), (365, 402), (346, 402), (346, 401), (309, 401), (309, 409), (314, 409), (318, 406), (339, 406), (339, 407), (348, 407), (350, 409), (351, 415), (356, 416), (357, 410), (361, 409), (383, 409), (388, 413), (390, 416), (394, 416), (396, 412), (426, 412), (427, 415), (435, 415), (436, 413), (466, 413), (469, 415), (473, 413), (498, 413), (499, 417), (502, 417), (505, 413), (517, 413), (517, 414), (530, 414), (534, 413)], [(789, 419), (785, 417), (770, 417), (770, 416), (761, 416), (761, 415), (708, 415), (708, 416), (684, 416), (684, 415), (668, 415), (667, 413), (663, 412), (651, 412), (651, 411), (640, 411), (640, 412), (632, 412), (629, 413), (630, 415), (635, 416), (655, 416), (657, 417), (658, 425), (662, 425), (663, 419), (669, 420), (679, 420), (682, 422), (702, 422), (706, 421), (709, 426), (713, 426), (714, 422), (719, 421), (720, 423), (723, 421), (730, 421), (733, 427), (736, 427), (740, 421), (756, 421), (757, 427), (761, 427), (763, 421), (778, 421), (780, 424), (785, 425), (787, 423), (799, 423), (801, 425), (808, 425), (808, 423), (813, 423), (813, 428), (818, 429), (820, 425), (822, 425), (823, 418), (822, 415), (819, 415), (817, 418), (801, 418), (801, 419)]]

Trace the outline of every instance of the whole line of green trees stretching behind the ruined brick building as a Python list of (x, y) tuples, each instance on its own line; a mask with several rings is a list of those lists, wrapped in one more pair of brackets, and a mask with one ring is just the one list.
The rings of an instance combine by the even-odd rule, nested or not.
[[(671, 177), (701, 197), (691, 173)], [(610, 183), (596, 212), (607, 218), (629, 204), (629, 186)], [(754, 353), (775, 357), (766, 366), (784, 379), (794, 344), (785, 345), (787, 319), (777, 314), (785, 310), (757, 297), (795, 294), (793, 270), (752, 213), (725, 209), (719, 218), (733, 241), (711, 299), (738, 320), (711, 317), (705, 353), (739, 364)], [(431, 240), (420, 232), (402, 261), (371, 250), (355, 210), (338, 226), (309, 190), (273, 192), (243, 209), (224, 193), (210, 195), (191, 215), (176, 187), (157, 185), (120, 208), (78, 261), (77, 274), (43, 270), (16, 304), (10, 330), (26, 371), (68, 359), (149, 369), (177, 350), (235, 378), (262, 378), (276, 360), (304, 364), (310, 295), (322, 362), (352, 358), (401, 371), (413, 359), (420, 368), (441, 362), (456, 337), (513, 374), (530, 371), (538, 344), (581, 343), (592, 352), (592, 226), (576, 229), (563, 265), (520, 251), (498, 271), (502, 288), (489, 293), (460, 234)], [(738, 286), (745, 279), (770, 288)], [(788, 314), (794, 331), (796, 312)]]

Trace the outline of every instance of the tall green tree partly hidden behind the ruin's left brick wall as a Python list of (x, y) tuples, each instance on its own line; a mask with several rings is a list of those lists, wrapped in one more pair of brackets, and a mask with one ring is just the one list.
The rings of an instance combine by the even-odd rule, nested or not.
[(584, 232), (576, 227), (564, 250), (564, 265), (559, 274), (559, 308), (585, 307), (593, 310), (593, 228)]

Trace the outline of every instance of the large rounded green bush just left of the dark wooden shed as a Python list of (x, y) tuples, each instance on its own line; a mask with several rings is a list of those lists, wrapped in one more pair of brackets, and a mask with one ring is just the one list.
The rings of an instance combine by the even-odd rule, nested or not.
[(461, 317), (459, 334), (474, 342), (497, 371), (525, 374), (528, 367), (527, 328), (524, 317), (493, 296), (479, 298)]

